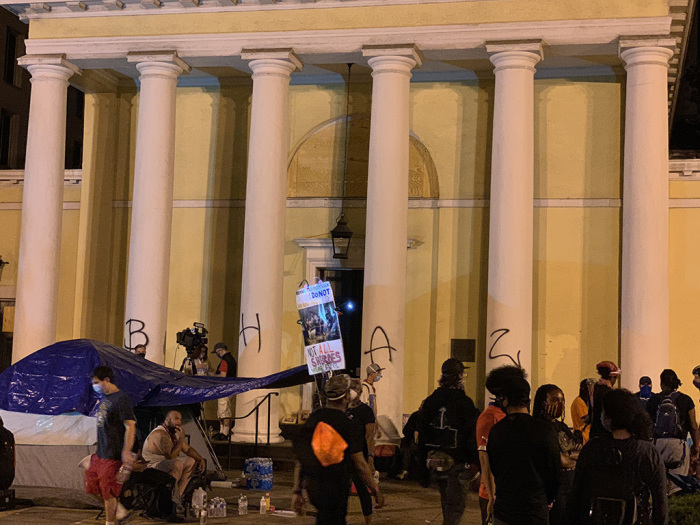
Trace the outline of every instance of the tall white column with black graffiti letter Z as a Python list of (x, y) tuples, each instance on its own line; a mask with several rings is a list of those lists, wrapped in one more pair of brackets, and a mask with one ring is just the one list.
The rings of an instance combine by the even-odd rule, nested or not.
[(489, 209), (486, 372), (532, 369), (534, 75), (539, 43), (486, 46), (496, 75)]

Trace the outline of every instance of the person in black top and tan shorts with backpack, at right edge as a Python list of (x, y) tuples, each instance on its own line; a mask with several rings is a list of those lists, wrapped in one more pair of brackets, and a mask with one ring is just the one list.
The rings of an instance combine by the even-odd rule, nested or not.
[[(661, 393), (647, 402), (647, 412), (654, 423), (654, 445), (671, 474), (688, 475), (691, 456), (697, 457), (698, 423), (695, 403), (690, 396), (678, 391), (681, 382), (676, 372), (661, 372)], [(688, 433), (693, 440), (688, 450)]]

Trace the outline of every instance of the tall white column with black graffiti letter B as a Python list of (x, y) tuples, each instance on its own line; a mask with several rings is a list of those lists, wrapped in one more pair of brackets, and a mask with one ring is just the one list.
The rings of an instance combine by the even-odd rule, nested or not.
[(139, 70), (134, 191), (126, 287), (125, 346), (146, 345), (165, 364), (177, 77), (190, 68), (175, 52), (129, 54)]

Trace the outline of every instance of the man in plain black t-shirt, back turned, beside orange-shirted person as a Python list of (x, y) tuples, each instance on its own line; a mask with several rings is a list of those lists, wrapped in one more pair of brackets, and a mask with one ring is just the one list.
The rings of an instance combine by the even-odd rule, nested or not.
[[(493, 507), (494, 525), (547, 525), (548, 506), (559, 489), (561, 460), (557, 433), (552, 426), (529, 414), (530, 384), (512, 374), (494, 369), (486, 379), (493, 383), (494, 374), (503, 375), (497, 389), (506, 417), (489, 432), (489, 465), (496, 481)], [(488, 387), (490, 391), (492, 387)]]

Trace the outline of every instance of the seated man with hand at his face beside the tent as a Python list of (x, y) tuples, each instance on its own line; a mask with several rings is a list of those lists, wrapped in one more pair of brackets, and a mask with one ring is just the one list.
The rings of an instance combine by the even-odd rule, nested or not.
[(166, 472), (175, 478), (173, 501), (177, 504), (182, 503), (182, 495), (192, 474), (206, 469), (204, 458), (187, 444), (182, 431), (182, 414), (177, 410), (168, 412), (163, 424), (151, 431), (143, 444), (141, 455), (148, 462), (149, 468)]

